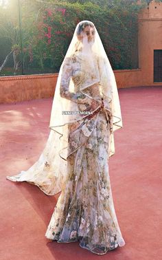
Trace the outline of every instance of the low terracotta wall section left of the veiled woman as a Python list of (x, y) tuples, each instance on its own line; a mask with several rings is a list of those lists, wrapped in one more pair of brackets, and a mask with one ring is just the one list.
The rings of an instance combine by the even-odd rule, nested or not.
[(54, 96), (58, 74), (8, 76), (0, 78), (0, 103)]

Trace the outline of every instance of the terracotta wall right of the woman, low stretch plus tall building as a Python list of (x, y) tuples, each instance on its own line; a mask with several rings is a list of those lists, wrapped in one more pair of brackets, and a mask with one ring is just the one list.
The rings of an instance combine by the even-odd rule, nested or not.
[(139, 69), (115, 70), (117, 87), (162, 86), (154, 83), (154, 50), (162, 50), (162, 3), (150, 2), (139, 14)]

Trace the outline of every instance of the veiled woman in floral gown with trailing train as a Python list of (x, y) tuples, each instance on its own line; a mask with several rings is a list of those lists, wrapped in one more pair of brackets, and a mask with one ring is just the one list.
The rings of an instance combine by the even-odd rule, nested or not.
[(95, 25), (82, 21), (60, 67), (46, 147), (29, 170), (7, 176), (35, 184), (47, 195), (62, 191), (47, 239), (80, 241), (95, 254), (125, 245), (108, 173), (113, 131), (121, 127), (113, 70)]

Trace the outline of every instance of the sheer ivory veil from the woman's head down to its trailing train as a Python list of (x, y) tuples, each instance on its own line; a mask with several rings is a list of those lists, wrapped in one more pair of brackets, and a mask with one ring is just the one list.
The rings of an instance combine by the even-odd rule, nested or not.
[[(89, 41), (88, 36), (80, 32), (83, 25), (93, 28), (94, 41)], [(78, 67), (80, 74), (77, 74)], [(69, 147), (69, 136), (73, 137), (82, 131), (86, 140), (91, 135), (89, 122), (103, 102), (111, 131), (110, 157), (115, 153), (113, 132), (122, 127), (117, 85), (95, 25), (90, 21), (82, 21), (76, 26), (60, 67), (45, 149), (30, 169), (7, 176), (7, 179), (35, 184), (47, 195), (60, 192), (67, 175), (67, 158), (82, 146), (78, 138), (78, 144)]]

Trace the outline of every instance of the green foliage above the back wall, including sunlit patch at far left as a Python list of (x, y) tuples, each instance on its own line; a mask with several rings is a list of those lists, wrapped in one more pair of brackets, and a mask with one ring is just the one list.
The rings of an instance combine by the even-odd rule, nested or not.
[[(8, 37), (10, 50), (15, 55), (23, 52), (25, 74), (58, 72), (77, 23), (90, 20), (100, 34), (113, 69), (136, 68), (137, 15), (148, 2), (141, 0), (139, 5), (137, 0), (13, 0), (5, 9), (5, 16), (0, 6), (5, 24), (0, 45), (1, 39)], [(10, 28), (6, 27), (8, 21)]]

